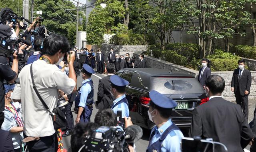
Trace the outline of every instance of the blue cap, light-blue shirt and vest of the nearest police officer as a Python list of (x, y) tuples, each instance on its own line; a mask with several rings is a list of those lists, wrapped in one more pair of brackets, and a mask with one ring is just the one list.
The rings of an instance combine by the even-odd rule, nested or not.
[[(157, 91), (150, 91), (149, 96), (151, 101), (161, 108), (172, 110), (177, 106), (175, 101)], [(181, 152), (180, 142), (183, 137), (180, 129), (169, 119), (160, 128), (152, 128), (147, 152)]]

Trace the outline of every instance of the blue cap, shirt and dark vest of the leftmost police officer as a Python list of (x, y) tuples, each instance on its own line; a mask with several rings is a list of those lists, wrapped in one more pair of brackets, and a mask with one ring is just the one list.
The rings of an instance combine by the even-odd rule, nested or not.
[[(88, 73), (94, 73), (94, 70), (87, 64), (83, 65), (84, 70)], [(84, 111), (80, 116), (80, 123), (90, 122), (90, 117), (92, 115), (92, 104), (94, 95), (94, 85), (92, 79), (86, 79), (82, 82), (81, 89), (78, 93), (78, 97), (80, 97), (80, 101), (76, 102), (76, 106), (84, 107)]]

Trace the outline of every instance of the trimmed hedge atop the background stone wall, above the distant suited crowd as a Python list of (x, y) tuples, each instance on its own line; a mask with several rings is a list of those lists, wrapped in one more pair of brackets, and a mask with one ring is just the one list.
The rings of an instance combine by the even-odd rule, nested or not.
[(116, 45), (146, 45), (143, 34), (116, 34), (110, 38), (110, 43)]

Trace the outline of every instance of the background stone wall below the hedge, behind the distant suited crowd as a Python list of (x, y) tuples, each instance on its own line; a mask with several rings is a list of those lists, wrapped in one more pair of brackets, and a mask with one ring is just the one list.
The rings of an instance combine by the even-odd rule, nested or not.
[(108, 44), (108, 43), (102, 43), (102, 53), (105, 54), (105, 58), (107, 59), (108, 53), (110, 52), (110, 49), (113, 48), (114, 52), (118, 53), (119, 55), (124, 55), (126, 53), (130, 53), (130, 57), (133, 56), (134, 52), (140, 53), (147, 50), (147, 45), (114, 45), (114, 44)]

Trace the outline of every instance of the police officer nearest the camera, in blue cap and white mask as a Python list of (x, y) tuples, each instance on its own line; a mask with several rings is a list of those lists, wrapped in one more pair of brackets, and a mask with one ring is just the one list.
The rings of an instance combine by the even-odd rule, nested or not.
[(170, 119), (177, 103), (154, 90), (149, 97), (148, 117), (156, 126), (152, 128), (146, 152), (181, 152), (180, 141), (184, 136)]

